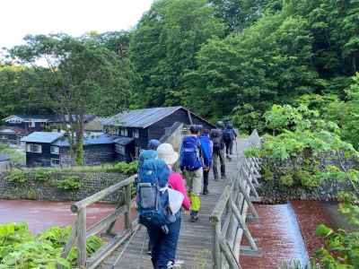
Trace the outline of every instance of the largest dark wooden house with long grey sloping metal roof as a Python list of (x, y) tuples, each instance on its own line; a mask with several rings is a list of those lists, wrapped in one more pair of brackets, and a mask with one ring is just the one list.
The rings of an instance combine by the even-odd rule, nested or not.
[[(135, 152), (135, 157), (138, 157), (140, 149), (146, 148), (149, 140), (160, 140), (165, 135), (165, 129), (171, 128), (175, 123), (182, 123), (185, 126), (201, 125), (208, 129), (215, 128), (206, 119), (197, 116), (187, 108), (168, 107), (144, 108), (119, 113), (103, 122), (103, 131), (106, 134), (132, 138), (135, 148), (129, 151)], [(115, 148), (117, 152), (124, 152), (123, 145), (120, 143), (115, 142)]]

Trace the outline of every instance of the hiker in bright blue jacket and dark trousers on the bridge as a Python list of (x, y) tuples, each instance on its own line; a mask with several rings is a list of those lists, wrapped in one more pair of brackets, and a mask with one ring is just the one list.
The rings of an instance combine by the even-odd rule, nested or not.
[(208, 176), (212, 167), (213, 142), (209, 139), (209, 130), (204, 129), (199, 136), (203, 158), (203, 195), (208, 195)]

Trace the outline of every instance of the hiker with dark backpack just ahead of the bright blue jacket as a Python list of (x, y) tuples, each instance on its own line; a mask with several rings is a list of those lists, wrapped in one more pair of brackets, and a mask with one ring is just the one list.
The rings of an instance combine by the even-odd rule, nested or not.
[(216, 123), (216, 129), (211, 131), (211, 140), (213, 142), (213, 170), (214, 178), (218, 180), (218, 160), (221, 165), (221, 178), (225, 179), (225, 160), (224, 160), (224, 142), (223, 142), (223, 127), (222, 121)]

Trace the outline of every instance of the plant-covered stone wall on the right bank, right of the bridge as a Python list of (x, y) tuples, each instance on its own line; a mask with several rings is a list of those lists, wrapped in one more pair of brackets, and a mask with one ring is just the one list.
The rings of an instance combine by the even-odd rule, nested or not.
[[(299, 158), (297, 162), (302, 163)], [(266, 173), (262, 169), (262, 178), (260, 179), (260, 186), (258, 187), (258, 194), (262, 197), (263, 203), (275, 204), (282, 203), (288, 200), (318, 200), (318, 201), (337, 201), (337, 194), (341, 191), (354, 190), (349, 181), (341, 182), (336, 179), (325, 179), (319, 187), (304, 188), (299, 186), (285, 187), (279, 182), (278, 171), (290, 171), (293, 165), (289, 162), (274, 162), (271, 160), (263, 160), (262, 165), (271, 167), (274, 178), (268, 180)], [(344, 163), (339, 163), (334, 154), (326, 153), (320, 156), (318, 169), (324, 170), (328, 165), (340, 167), (344, 166), (345, 169), (358, 169), (359, 162), (355, 159), (346, 160)]]

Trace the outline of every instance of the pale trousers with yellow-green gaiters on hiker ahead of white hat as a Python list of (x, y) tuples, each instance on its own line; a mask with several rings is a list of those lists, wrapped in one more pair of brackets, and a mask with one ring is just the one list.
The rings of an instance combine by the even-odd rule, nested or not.
[(183, 176), (186, 178), (187, 192), (189, 200), (191, 201), (191, 212), (198, 212), (201, 208), (201, 198), (203, 182), (203, 169), (199, 168), (194, 171), (183, 171)]

